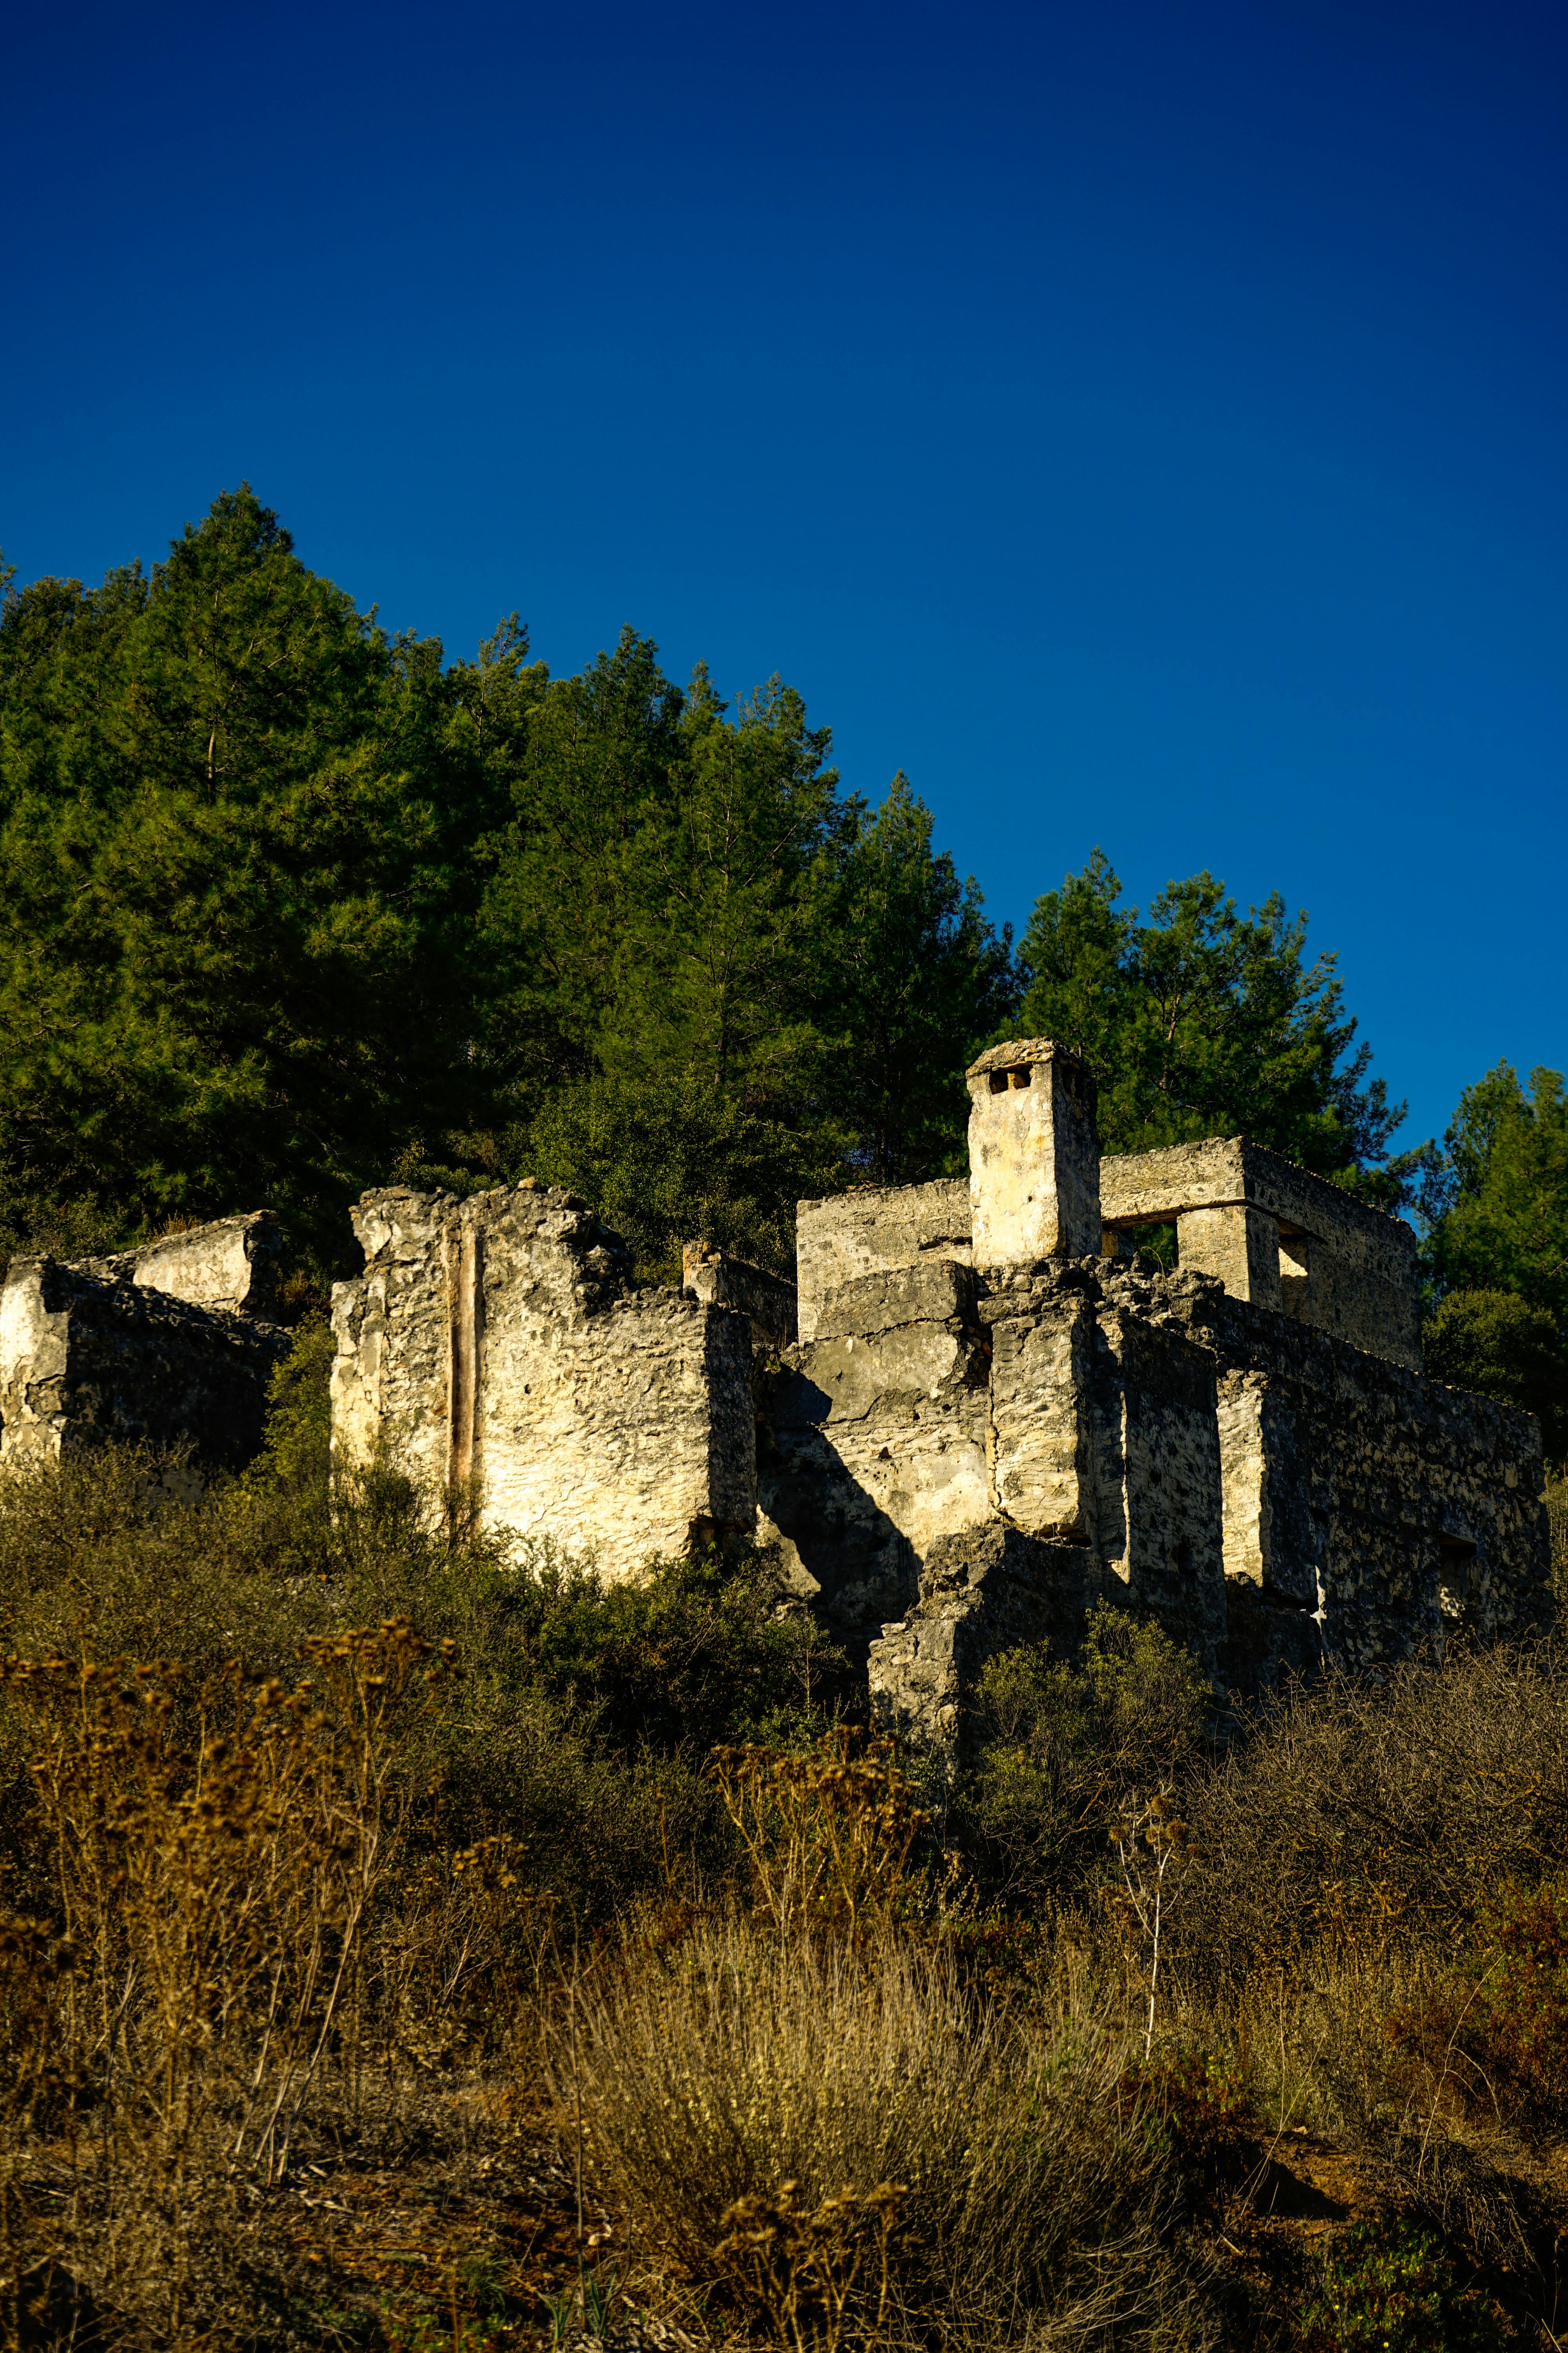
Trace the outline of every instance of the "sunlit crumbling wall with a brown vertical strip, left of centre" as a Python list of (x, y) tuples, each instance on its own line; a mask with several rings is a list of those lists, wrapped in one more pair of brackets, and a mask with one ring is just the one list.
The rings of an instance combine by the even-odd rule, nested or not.
[(364, 1273), (334, 1287), (334, 1445), (425, 1492), (473, 1482), (480, 1525), (592, 1551), (611, 1577), (755, 1520), (745, 1315), (637, 1289), (574, 1193), (355, 1209)]

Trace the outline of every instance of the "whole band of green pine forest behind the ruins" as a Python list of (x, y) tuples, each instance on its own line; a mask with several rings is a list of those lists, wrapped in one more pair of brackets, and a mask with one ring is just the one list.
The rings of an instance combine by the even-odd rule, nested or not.
[(649, 1278), (780, 1266), (797, 1198), (961, 1169), (964, 1064), (1056, 1035), (1105, 1151), (1244, 1129), (1413, 1212), (1432, 1369), (1568, 1447), (1561, 1073), (1394, 1151), (1284, 894), (1140, 913), (1095, 852), (1016, 939), (783, 680), (726, 704), (632, 628), (552, 678), (517, 614), (449, 659), (249, 487), (148, 569), (0, 584), (0, 1254), (273, 1205), (320, 1297), (362, 1188), (538, 1174)]

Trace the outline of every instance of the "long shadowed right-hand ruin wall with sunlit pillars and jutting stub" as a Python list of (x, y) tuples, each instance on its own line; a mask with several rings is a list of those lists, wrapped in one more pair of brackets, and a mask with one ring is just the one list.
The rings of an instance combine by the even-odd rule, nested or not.
[(1239, 1692), (1324, 1659), (1441, 1654), (1458, 1628), (1497, 1640), (1547, 1624), (1530, 1414), (1237, 1301), (1194, 1268), (1056, 1261), (978, 1289), (983, 1522), (1018, 1541), (983, 1544), (976, 1515), (940, 1529), (926, 1515), (917, 1598), (870, 1645), (884, 1722), (929, 1737), (940, 1720), (954, 1737), (964, 1661), (1025, 1621), (1072, 1642), (1098, 1595), (1154, 1614)]

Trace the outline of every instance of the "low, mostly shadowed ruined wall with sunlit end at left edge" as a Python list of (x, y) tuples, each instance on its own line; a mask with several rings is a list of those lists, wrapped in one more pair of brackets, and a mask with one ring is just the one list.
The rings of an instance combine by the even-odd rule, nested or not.
[(289, 1334), (56, 1259), (12, 1259), (0, 1289), (0, 1466), (115, 1440), (190, 1445), (242, 1468)]

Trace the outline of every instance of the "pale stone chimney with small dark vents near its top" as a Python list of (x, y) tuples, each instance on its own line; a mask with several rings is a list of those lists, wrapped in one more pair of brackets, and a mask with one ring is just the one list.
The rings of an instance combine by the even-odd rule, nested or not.
[(1086, 1061), (1051, 1038), (994, 1045), (969, 1073), (973, 1261), (1100, 1252), (1100, 1139)]

